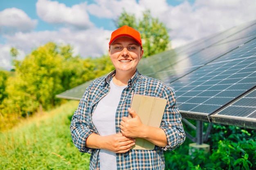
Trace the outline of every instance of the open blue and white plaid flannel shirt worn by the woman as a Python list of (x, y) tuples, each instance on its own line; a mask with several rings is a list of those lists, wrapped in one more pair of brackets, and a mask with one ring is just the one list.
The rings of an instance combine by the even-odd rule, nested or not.
[[(86, 89), (80, 100), (78, 109), (75, 111), (70, 126), (72, 140), (80, 152), (91, 154), (90, 170), (99, 170), (99, 149), (87, 148), (85, 146), (87, 137), (99, 134), (92, 124), (92, 114), (99, 100), (109, 92), (110, 80), (115, 76), (115, 71), (109, 73), (105, 78), (95, 79)], [(123, 154), (117, 154), (117, 170), (164, 170), (164, 150), (174, 150), (180, 146), (185, 138), (182, 125), (182, 117), (178, 111), (173, 88), (167, 86), (158, 79), (141, 75), (138, 70), (128, 82), (128, 86), (121, 95), (116, 112), (116, 132), (121, 133), (121, 118), (128, 117), (132, 96), (134, 94), (149, 95), (167, 99), (164, 112), (162, 128), (166, 134), (168, 145), (165, 147), (155, 146), (154, 150), (130, 150)]]

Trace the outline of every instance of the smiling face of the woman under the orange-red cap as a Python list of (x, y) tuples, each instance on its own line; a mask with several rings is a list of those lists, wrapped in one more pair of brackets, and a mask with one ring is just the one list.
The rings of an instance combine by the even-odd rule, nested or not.
[(135, 73), (139, 60), (142, 58), (143, 49), (132, 38), (120, 37), (110, 45), (109, 55), (116, 72)]

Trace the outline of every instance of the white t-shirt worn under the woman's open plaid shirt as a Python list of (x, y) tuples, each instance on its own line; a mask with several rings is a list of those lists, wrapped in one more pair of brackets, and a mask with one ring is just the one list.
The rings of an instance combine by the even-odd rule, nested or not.
[[(110, 91), (103, 97), (92, 115), (92, 122), (101, 136), (112, 135), (116, 133), (115, 117), (117, 106), (119, 104), (122, 91), (127, 86), (117, 86), (110, 81)], [(100, 170), (116, 170), (116, 154), (108, 150), (99, 150)]]

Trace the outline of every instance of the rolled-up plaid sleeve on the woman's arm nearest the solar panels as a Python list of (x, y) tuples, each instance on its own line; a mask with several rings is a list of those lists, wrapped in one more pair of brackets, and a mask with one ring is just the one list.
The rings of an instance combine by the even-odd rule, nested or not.
[(160, 128), (166, 134), (168, 145), (161, 149), (174, 150), (185, 141), (186, 134), (182, 124), (182, 116), (178, 110), (174, 89), (169, 87), (165, 91), (165, 95), (167, 105)]

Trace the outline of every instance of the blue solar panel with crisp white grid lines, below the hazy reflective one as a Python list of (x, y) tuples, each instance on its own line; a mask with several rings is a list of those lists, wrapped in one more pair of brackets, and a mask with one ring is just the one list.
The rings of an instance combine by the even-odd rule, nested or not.
[[(256, 86), (256, 39), (170, 84), (184, 117), (210, 115)], [(203, 115), (203, 116), (202, 116)]]

